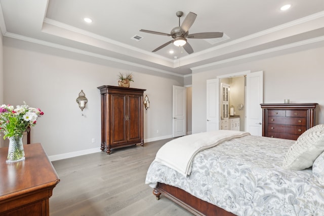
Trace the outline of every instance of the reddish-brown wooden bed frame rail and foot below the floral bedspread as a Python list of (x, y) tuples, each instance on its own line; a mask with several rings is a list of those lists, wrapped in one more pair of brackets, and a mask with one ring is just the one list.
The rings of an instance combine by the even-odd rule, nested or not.
[(235, 214), (209, 202), (198, 199), (180, 188), (163, 183), (157, 183), (156, 188), (153, 189), (153, 194), (157, 200), (159, 200), (161, 194), (165, 195), (195, 215), (235, 216)]

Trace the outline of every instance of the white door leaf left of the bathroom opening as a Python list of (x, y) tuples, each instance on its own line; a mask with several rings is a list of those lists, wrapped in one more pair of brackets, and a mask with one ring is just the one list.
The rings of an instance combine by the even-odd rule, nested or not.
[(207, 131), (219, 129), (219, 79), (207, 80)]

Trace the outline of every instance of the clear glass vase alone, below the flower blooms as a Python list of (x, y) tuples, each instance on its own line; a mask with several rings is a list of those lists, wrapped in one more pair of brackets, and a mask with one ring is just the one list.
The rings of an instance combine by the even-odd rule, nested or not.
[(10, 137), (6, 163), (13, 163), (25, 159), (22, 137)]

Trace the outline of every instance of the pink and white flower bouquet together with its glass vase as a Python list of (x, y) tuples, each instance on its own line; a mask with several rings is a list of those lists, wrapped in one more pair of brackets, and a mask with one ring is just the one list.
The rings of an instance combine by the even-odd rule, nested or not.
[(4, 139), (9, 138), (7, 163), (25, 159), (22, 135), (42, 115), (44, 112), (41, 109), (29, 107), (25, 102), (16, 108), (11, 105), (0, 106), (0, 131), (4, 133)]

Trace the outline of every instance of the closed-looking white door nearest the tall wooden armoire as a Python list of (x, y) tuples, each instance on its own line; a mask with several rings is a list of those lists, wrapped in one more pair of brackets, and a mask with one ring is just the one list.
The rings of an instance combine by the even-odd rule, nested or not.
[(173, 134), (172, 137), (186, 135), (186, 88), (173, 85)]

